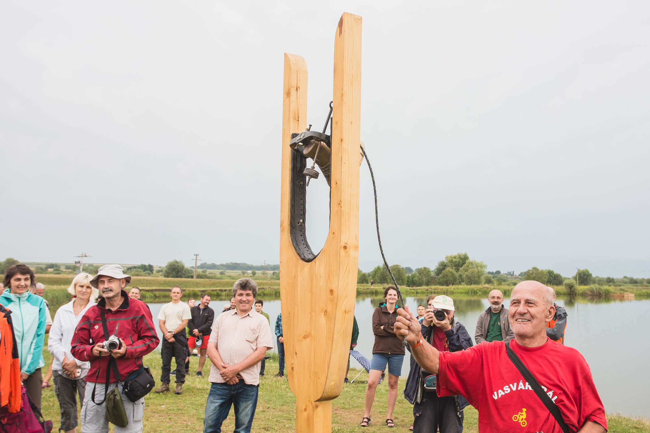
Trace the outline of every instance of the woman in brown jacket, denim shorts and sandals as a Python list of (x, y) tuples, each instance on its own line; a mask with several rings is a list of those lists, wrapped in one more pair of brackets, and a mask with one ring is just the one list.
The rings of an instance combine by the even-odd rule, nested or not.
[(385, 306), (378, 306), (372, 314), (372, 333), (374, 334), (374, 346), (372, 347), (372, 362), (370, 362), (370, 373), (368, 373), (368, 386), (366, 388), (365, 414), (361, 427), (370, 425), (370, 408), (374, 401), (374, 392), (379, 383), (382, 371), (388, 365), (388, 410), (386, 415), (386, 426), (395, 427), (391, 418), (395, 401), (397, 400), (397, 383), (402, 373), (402, 362), (404, 362), (404, 345), (402, 340), (395, 335), (394, 327), (397, 319), (397, 290), (388, 286), (383, 291)]

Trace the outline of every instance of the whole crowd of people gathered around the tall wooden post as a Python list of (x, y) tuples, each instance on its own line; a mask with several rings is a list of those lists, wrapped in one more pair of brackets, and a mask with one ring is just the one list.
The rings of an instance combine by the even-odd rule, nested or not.
[[(68, 288), (72, 300), (62, 305), (52, 320), (43, 298), (44, 286), (34, 284), (31, 269), (19, 264), (7, 270), (0, 303), (12, 312), (20, 376), (32, 401), (40, 408), (42, 388), (53, 380), (60, 404), (60, 430), (76, 430), (78, 397), (82, 402), (81, 431), (107, 432), (113, 415), (110, 409), (107, 414), (105, 401), (112, 390), (118, 388), (117, 398), (122, 400), (127, 419), (126, 427), (116, 425), (115, 431), (142, 431), (144, 398), (131, 401), (125, 396), (124, 387), (134, 372), (144, 368), (143, 356), (160, 346), (161, 384), (156, 393), (172, 390), (172, 376), (174, 392), (183, 392), (194, 351), (199, 356), (197, 376), (203, 376), (206, 358), (212, 364), (203, 431), (219, 432), (234, 406), (235, 431), (250, 432), (259, 378), (265, 374), (266, 352), (274, 348), (274, 343), (279, 354), (276, 377), (284, 375), (281, 314), (274, 324), (275, 336), (272, 337), (270, 317), (263, 312), (263, 301), (256, 299), (257, 284), (250, 278), (240, 278), (233, 286), (230, 303), (220, 314), (215, 314), (209, 306), (211, 299), (207, 293), (198, 301), (190, 299), (185, 303), (181, 301), (182, 289), (174, 286), (170, 291), (171, 302), (161, 306), (155, 323), (149, 306), (140, 300), (139, 288), (132, 287), (129, 293), (125, 291), (130, 282), (131, 277), (118, 265), (102, 266), (95, 276), (79, 273)], [(575, 349), (564, 346), (567, 314), (554, 302), (556, 296), (552, 288), (537, 282), (520, 283), (513, 290), (510, 308), (503, 305), (504, 297), (499, 290), (491, 291), (487, 299), (489, 307), (478, 317), (474, 341), (454, 317), (456, 308), (451, 297), (431, 295), (426, 306), (417, 306), (417, 314), (411, 314), (408, 308), (398, 308), (398, 297), (395, 287), (385, 288), (383, 303), (372, 315), (374, 345), (361, 427), (370, 425), (376, 387), (385, 378), (386, 369), (385, 426), (395, 427), (393, 409), (406, 351), (411, 353), (404, 389), (404, 397), (413, 404), (410, 430), (461, 432), (463, 409), (468, 404), (479, 410), (481, 431), (510, 430), (502, 426), (500, 418), (509, 419), (511, 423), (515, 420), (519, 426), (537, 423), (534, 414), (543, 418), (539, 425), (552, 425), (556, 415), (549, 415), (552, 412), (548, 409), (540, 409), (549, 407), (545, 406), (547, 402), (543, 397), (538, 398), (536, 393), (515, 392), (532, 391), (533, 388), (529, 381), (516, 377), (519, 367), (514, 361), (506, 361), (512, 360), (508, 356), (513, 351), (515, 357), (523, 358), (524, 364), (534, 371), (534, 376), (541, 377), (539, 382), (544, 392), (548, 390), (553, 404), (572, 408), (578, 414), (565, 416), (567, 422), (578, 427), (572, 431), (584, 426), (588, 429), (580, 431), (596, 432), (603, 431), (597, 428), (606, 428), (604, 416), (601, 416), (604, 413), (602, 403), (593, 381), (590, 374), (583, 374), (588, 372), (588, 365), (584, 359), (580, 361)], [(47, 332), (47, 350), (53, 355), (53, 361), (42, 377), (41, 369), (45, 367), (42, 348)], [(351, 351), (357, 345), (358, 336), (355, 317)], [(111, 339), (112, 346), (107, 343)], [(554, 365), (558, 358), (575, 361), (569, 373), (566, 367), (558, 373), (557, 370), (562, 369)], [(536, 363), (540, 359), (549, 368), (538, 368)], [(172, 360), (175, 360), (173, 371)], [(349, 367), (348, 360), (347, 369)], [(347, 369), (345, 382), (348, 382)], [(468, 377), (473, 377), (469, 383)], [(555, 380), (557, 377), (562, 380)], [(567, 386), (568, 389), (563, 389)], [(511, 399), (511, 393), (518, 398)], [(517, 412), (513, 412), (515, 408)], [(487, 413), (490, 411), (505, 415), (497, 417)], [(544, 431), (552, 431), (552, 428)]]

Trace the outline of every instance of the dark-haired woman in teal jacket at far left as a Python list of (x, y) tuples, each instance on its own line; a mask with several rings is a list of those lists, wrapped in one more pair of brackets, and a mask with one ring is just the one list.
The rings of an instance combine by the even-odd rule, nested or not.
[(11, 311), (14, 335), (18, 345), (20, 378), (34, 404), (41, 407), (43, 341), (45, 339), (45, 301), (29, 293), (36, 284), (34, 273), (28, 266), (14, 265), (6, 270), (3, 286), (8, 287), (0, 295), (0, 304)]

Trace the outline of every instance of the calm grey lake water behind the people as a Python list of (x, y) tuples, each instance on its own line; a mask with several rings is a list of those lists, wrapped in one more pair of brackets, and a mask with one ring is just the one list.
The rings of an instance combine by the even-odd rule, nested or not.
[[(356, 349), (369, 359), (374, 342), (372, 312), (382, 301), (380, 297), (358, 297), (356, 300), (355, 316), (359, 325)], [(406, 298), (406, 304), (413, 310), (425, 301), (426, 297)], [(579, 299), (572, 302), (558, 299), (557, 303), (564, 306), (568, 314), (565, 343), (578, 349), (590, 365), (605, 410), (650, 417), (650, 371), (647, 368), (650, 345), (645, 334), (650, 329), (650, 300), (590, 302)], [(210, 306), (218, 314), (224, 304), (224, 301), (213, 301)], [(487, 299), (455, 295), (454, 304), (456, 320), (465, 325), (473, 338), (478, 315), (489, 306)], [(161, 305), (149, 304), (154, 318)], [(508, 306), (507, 299), (504, 305)], [(273, 330), (280, 313), (279, 299), (264, 299), (263, 311), (270, 316)], [(351, 366), (360, 367), (354, 358)], [(405, 377), (408, 369), (408, 356), (405, 356), (402, 365)]]

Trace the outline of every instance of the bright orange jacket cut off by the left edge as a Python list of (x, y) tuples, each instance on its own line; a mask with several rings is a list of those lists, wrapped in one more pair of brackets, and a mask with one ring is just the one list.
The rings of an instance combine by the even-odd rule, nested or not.
[(0, 406), (20, 412), (20, 360), (11, 312), (0, 304)]

